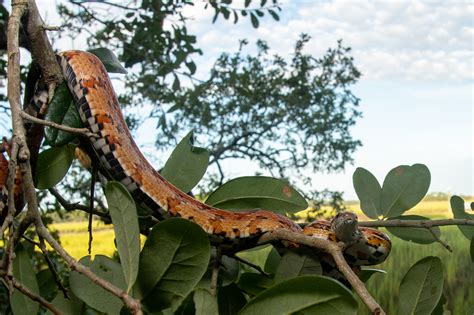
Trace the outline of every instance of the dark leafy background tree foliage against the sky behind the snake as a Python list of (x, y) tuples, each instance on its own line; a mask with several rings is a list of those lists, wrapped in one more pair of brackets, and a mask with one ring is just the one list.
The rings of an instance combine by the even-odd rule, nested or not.
[[(308, 173), (343, 170), (361, 145), (350, 133), (360, 116), (359, 99), (350, 90), (360, 73), (350, 48), (339, 41), (316, 58), (304, 53), (310, 38), (302, 34), (287, 61), (272, 56), (263, 41), (257, 43), (256, 55), (246, 55), (247, 42), (242, 40), (239, 50), (222, 54), (202, 80), (195, 77), (193, 61), (201, 50), (183, 15), (193, 5), (192, 1), (125, 5), (70, 1), (59, 6), (63, 29), (69, 32), (62, 36), (96, 30), (88, 44), (112, 49), (131, 69), (121, 104), (152, 105), (149, 117), (158, 121), (159, 150), (176, 145), (183, 132), (197, 131), (213, 166), (201, 184), (204, 191), (228, 179), (221, 166), (224, 160), (250, 159), (273, 176), (298, 175), (309, 198), (340, 207), (342, 194), (311, 190)], [(206, 8), (214, 11), (213, 22), (224, 18), (237, 23), (244, 18), (257, 28), (265, 14), (279, 20), (276, 0), (233, 5), (209, 1)], [(181, 84), (183, 80), (188, 84)], [(146, 118), (130, 114), (130, 127), (142, 119)]]

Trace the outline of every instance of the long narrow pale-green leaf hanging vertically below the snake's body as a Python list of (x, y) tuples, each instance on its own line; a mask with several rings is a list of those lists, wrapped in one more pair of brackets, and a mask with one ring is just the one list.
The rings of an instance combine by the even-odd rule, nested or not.
[(117, 250), (127, 283), (127, 292), (130, 292), (137, 279), (140, 256), (137, 208), (130, 193), (119, 182), (108, 182), (105, 196), (112, 217)]

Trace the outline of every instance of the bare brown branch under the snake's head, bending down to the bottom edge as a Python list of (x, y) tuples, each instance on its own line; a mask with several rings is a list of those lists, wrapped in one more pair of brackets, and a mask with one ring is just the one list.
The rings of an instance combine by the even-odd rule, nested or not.
[(277, 240), (286, 240), (312, 248), (321, 249), (329, 253), (334, 258), (334, 261), (336, 262), (339, 271), (351, 284), (351, 286), (357, 292), (357, 294), (365, 303), (365, 305), (367, 305), (372, 314), (385, 314), (384, 310), (380, 307), (380, 305), (378, 305), (377, 301), (375, 301), (374, 298), (370, 295), (369, 291), (367, 291), (367, 288), (365, 287), (364, 283), (360, 281), (359, 277), (352, 271), (352, 269), (347, 264), (342, 254), (342, 246), (340, 244), (282, 229), (267, 232), (260, 238), (258, 244), (267, 244)]

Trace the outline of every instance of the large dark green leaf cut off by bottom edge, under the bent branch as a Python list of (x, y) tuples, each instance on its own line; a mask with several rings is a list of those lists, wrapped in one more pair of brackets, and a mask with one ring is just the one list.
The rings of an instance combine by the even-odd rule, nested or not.
[(265, 290), (247, 303), (247, 314), (357, 314), (357, 301), (346, 287), (322, 276), (293, 278)]

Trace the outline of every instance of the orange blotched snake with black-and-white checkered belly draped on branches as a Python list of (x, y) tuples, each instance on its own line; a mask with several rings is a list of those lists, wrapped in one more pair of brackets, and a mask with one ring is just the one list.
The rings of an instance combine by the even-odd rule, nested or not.
[[(58, 60), (82, 122), (96, 135), (90, 137), (89, 142), (100, 171), (108, 179), (122, 183), (137, 204), (161, 218), (190, 220), (201, 226), (212, 241), (221, 244), (256, 242), (265, 232), (286, 229), (334, 242), (346, 242), (349, 245), (344, 255), (353, 269), (378, 264), (387, 258), (391, 249), (388, 236), (376, 229), (358, 228), (357, 217), (351, 212), (339, 213), (331, 222), (317, 220), (302, 229), (274, 212), (230, 212), (190, 197), (164, 179), (139, 150), (101, 61), (83, 51), (62, 52)], [(321, 256), (322, 262), (328, 264), (323, 270), (331, 275), (334, 263), (330, 258), (324, 258), (323, 253)]]

